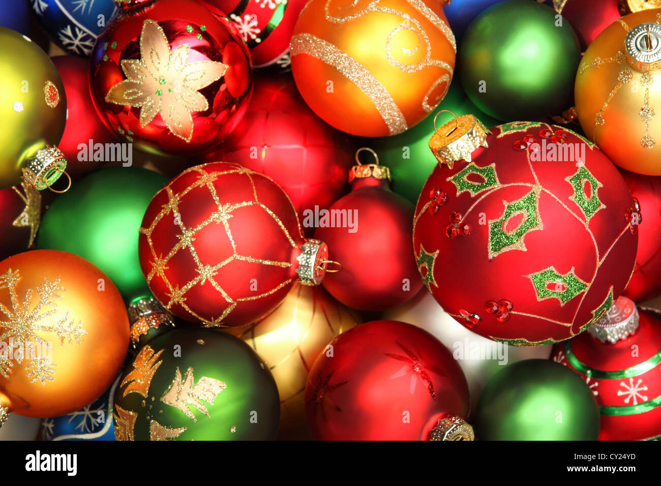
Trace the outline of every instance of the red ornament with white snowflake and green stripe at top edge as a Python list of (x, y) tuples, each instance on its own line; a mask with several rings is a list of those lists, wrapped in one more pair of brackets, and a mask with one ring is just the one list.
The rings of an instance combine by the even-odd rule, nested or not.
[(200, 0), (231, 19), (248, 44), (255, 67), (286, 67), (293, 26), (307, 0)]

